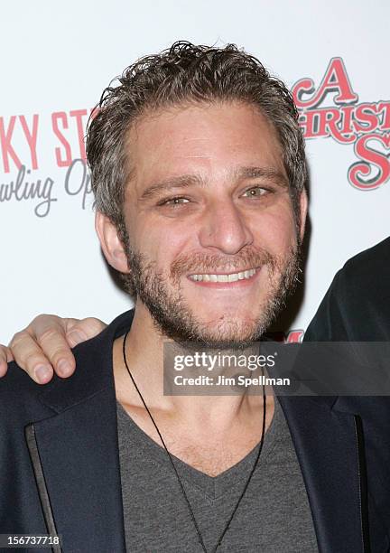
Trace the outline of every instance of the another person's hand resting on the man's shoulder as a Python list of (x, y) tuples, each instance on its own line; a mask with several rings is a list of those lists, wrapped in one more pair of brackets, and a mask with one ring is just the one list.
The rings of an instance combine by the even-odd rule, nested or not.
[(61, 319), (41, 314), (23, 331), (16, 333), (8, 347), (0, 344), (0, 377), (7, 362), (16, 361), (35, 382), (46, 384), (53, 370), (62, 378), (73, 374), (76, 361), (70, 348), (93, 338), (106, 328), (99, 319)]

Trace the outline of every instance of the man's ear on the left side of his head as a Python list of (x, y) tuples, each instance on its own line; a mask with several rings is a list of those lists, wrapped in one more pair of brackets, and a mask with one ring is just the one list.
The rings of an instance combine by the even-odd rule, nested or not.
[(119, 239), (116, 226), (108, 219), (107, 215), (100, 211), (97, 211), (95, 215), (95, 229), (109, 265), (121, 273), (128, 273), (125, 248)]

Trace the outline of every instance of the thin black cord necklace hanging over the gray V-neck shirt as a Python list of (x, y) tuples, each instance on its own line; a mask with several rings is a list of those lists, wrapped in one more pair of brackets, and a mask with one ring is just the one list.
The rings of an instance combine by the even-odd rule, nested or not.
[[(163, 441), (163, 436), (161, 435), (160, 430), (158, 429), (156, 423), (154, 422), (154, 418), (152, 417), (152, 413), (150, 412), (149, 408), (147, 407), (146, 403), (144, 402), (144, 398), (143, 398), (143, 396), (142, 396), (140, 390), (138, 389), (138, 386), (136, 385), (135, 380), (134, 380), (134, 378), (133, 378), (133, 375), (132, 375), (132, 373), (130, 372), (130, 369), (129, 369), (129, 367), (128, 367), (127, 359), (126, 359), (126, 354), (125, 354), (125, 342), (126, 342), (126, 339), (127, 339), (127, 336), (128, 336), (128, 333), (129, 333), (129, 332), (130, 332), (130, 331), (128, 330), (127, 333), (125, 333), (125, 339), (124, 339), (124, 342), (123, 342), (123, 358), (124, 358), (124, 361), (125, 361), (125, 368), (127, 369), (127, 372), (129, 373), (130, 379), (132, 380), (132, 382), (133, 382), (133, 384), (134, 384), (134, 386), (135, 386), (135, 389), (136, 389), (136, 391), (138, 392), (138, 395), (139, 395), (139, 397), (141, 398), (141, 401), (142, 401), (143, 404), (144, 404), (144, 408), (146, 409), (146, 411), (147, 411), (149, 417), (151, 418), (151, 420), (152, 420), (152, 422), (153, 422), (153, 426), (154, 426), (154, 428), (156, 429), (156, 432), (157, 432), (158, 436), (160, 437), (160, 439), (161, 439), (161, 441), (162, 441), (163, 448), (165, 449), (165, 451), (166, 451), (166, 453), (167, 453), (167, 455), (168, 455), (168, 457), (169, 457), (169, 459), (170, 459), (170, 462), (171, 462), (172, 468), (173, 468), (173, 472), (176, 474), (177, 481), (178, 481), (178, 483), (179, 483), (179, 485), (180, 485), (180, 488), (181, 488), (181, 493), (182, 493), (182, 495), (183, 495), (183, 497), (184, 497), (184, 499), (185, 499), (185, 501), (186, 501), (186, 503), (187, 503), (188, 510), (190, 511), (190, 517), (191, 517), (191, 519), (192, 519), (192, 522), (193, 522), (193, 525), (194, 525), (194, 527), (195, 527), (195, 530), (196, 530), (196, 532), (197, 532), (197, 534), (198, 534), (198, 540), (199, 540), (199, 542), (200, 542), (200, 546), (201, 546), (201, 548), (203, 549), (204, 553), (208, 553), (208, 550), (207, 550), (207, 548), (206, 548), (206, 546), (205, 546), (205, 544), (204, 544), (202, 535), (201, 535), (201, 533), (200, 533), (200, 527), (199, 527), (199, 525), (198, 525), (197, 520), (195, 519), (194, 512), (192, 511), (192, 507), (190, 506), (190, 501), (189, 501), (189, 499), (188, 499), (188, 497), (187, 497), (187, 493), (185, 492), (183, 483), (181, 482), (181, 477), (179, 476), (179, 473), (177, 472), (176, 466), (175, 466), (175, 464), (173, 463), (172, 455), (171, 455), (170, 452), (168, 451), (168, 448), (167, 448), (167, 446), (165, 445), (165, 442)], [(263, 369), (262, 369), (262, 376), (264, 376)], [(259, 461), (259, 459), (260, 459), (260, 455), (261, 455), (261, 452), (262, 452), (262, 449), (263, 449), (263, 444), (264, 444), (264, 437), (265, 437), (265, 416), (266, 416), (266, 401), (265, 401), (266, 397), (265, 397), (265, 386), (264, 386), (264, 385), (262, 386), (262, 389), (263, 389), (263, 426), (262, 426), (262, 435), (261, 435), (261, 438), (260, 438), (260, 443), (259, 443), (259, 445), (258, 445), (258, 452), (257, 452), (256, 458), (255, 458), (255, 464), (253, 465), (253, 467), (252, 467), (252, 469), (251, 469), (251, 472), (249, 473), (249, 476), (248, 476), (248, 478), (247, 478), (247, 480), (246, 480), (246, 484), (245, 484), (245, 486), (244, 486), (244, 490), (241, 492), (241, 495), (240, 495), (239, 498), (238, 498), (238, 501), (237, 501), (237, 503), (236, 503), (236, 506), (235, 506), (235, 508), (233, 509), (233, 512), (231, 513), (231, 515), (230, 515), (230, 517), (229, 517), (229, 519), (228, 519), (228, 522), (227, 522), (227, 524), (226, 524), (224, 530), (222, 531), (221, 535), (219, 536), (218, 541), (217, 541), (217, 545), (215, 546), (215, 548), (213, 548), (212, 553), (216, 553), (218, 547), (220, 546), (220, 544), (221, 544), (221, 542), (222, 542), (222, 539), (224, 539), (225, 534), (227, 533), (228, 528), (229, 528), (229, 526), (230, 526), (230, 523), (231, 523), (231, 521), (233, 520), (233, 517), (234, 517), (235, 514), (236, 514), (236, 511), (237, 511), (237, 509), (238, 509), (238, 506), (239, 506), (241, 500), (243, 499), (243, 497), (244, 497), (244, 495), (245, 495), (245, 493), (246, 493), (246, 489), (247, 489), (247, 487), (248, 487), (250, 481), (252, 480), (252, 476), (253, 476), (253, 474), (255, 473), (255, 468), (256, 468), (256, 466), (257, 466), (257, 464), (258, 464), (258, 461)]]

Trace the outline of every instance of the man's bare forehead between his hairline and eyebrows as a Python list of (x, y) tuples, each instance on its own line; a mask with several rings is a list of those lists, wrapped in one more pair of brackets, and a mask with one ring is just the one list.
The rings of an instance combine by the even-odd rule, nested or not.
[(236, 103), (161, 110), (138, 121), (127, 146), (137, 189), (206, 184), (212, 175), (287, 184), (274, 127), (255, 115), (253, 107)]

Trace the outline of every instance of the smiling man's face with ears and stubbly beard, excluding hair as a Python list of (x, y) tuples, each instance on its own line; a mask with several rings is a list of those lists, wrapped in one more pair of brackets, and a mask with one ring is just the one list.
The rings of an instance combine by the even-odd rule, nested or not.
[[(293, 284), (302, 237), (271, 123), (234, 99), (187, 102), (134, 124), (124, 224), (104, 206), (97, 215), (108, 262), (130, 267), (152, 355), (162, 346), (153, 322), (163, 337), (213, 347), (257, 339)], [(300, 192), (299, 220), (305, 209)]]

